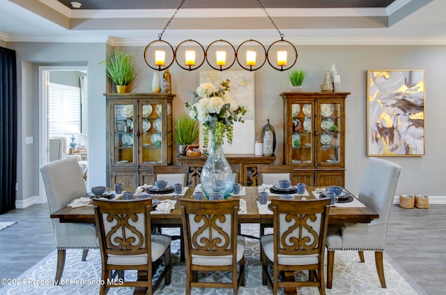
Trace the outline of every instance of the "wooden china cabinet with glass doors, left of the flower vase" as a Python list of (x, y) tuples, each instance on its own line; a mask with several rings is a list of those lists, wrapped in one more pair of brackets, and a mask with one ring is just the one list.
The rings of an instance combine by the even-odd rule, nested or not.
[(107, 186), (153, 183), (154, 165), (172, 163), (169, 93), (106, 93)]

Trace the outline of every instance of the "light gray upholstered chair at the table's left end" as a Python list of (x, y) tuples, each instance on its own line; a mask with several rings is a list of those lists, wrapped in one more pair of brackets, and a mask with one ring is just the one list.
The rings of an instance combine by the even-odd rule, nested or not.
[[(84, 178), (75, 158), (48, 162), (40, 167), (49, 213), (54, 213), (67, 206), (73, 199), (86, 194)], [(53, 218), (54, 240), (57, 248), (56, 282), (59, 282), (65, 265), (66, 249), (84, 249), (82, 261), (85, 261), (88, 249), (98, 248), (94, 225), (79, 223), (61, 223)]]

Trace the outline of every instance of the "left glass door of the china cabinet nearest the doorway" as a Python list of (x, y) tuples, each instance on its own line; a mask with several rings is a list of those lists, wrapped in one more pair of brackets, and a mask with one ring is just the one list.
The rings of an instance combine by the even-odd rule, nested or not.
[(118, 165), (136, 165), (135, 146), (135, 119), (136, 103), (114, 103), (112, 107), (112, 162)]

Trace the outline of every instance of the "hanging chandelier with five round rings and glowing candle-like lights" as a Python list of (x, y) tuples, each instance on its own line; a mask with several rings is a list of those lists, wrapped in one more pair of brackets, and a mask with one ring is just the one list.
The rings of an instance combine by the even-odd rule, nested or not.
[(272, 43), (268, 50), (259, 41), (252, 39), (241, 43), (237, 49), (226, 40), (215, 40), (206, 50), (199, 42), (189, 39), (181, 42), (174, 50), (172, 45), (162, 40), (162, 34), (185, 3), (185, 0), (182, 0), (174, 15), (171, 16), (162, 32), (158, 34), (159, 39), (153, 40), (146, 46), (144, 60), (147, 66), (153, 70), (161, 71), (169, 68), (175, 61), (184, 70), (197, 70), (206, 61), (211, 68), (221, 71), (231, 68), (237, 61), (240, 67), (252, 71), (259, 70), (268, 61), (275, 70), (289, 70), (298, 60), (298, 51), (292, 43), (284, 40), (284, 34), (277, 28), (261, 0), (257, 0), (257, 2), (280, 36), (280, 40)]

